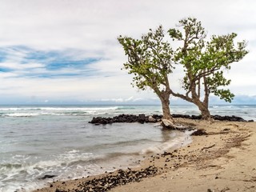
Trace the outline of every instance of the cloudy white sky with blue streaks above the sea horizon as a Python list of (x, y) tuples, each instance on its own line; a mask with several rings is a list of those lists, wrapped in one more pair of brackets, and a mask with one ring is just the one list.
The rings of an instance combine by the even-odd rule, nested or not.
[[(159, 25), (167, 31), (187, 17), (208, 36), (235, 32), (248, 42), (250, 53), (226, 77), (234, 104), (256, 104), (255, 7), (254, 0), (0, 0), (0, 104), (158, 103), (152, 90), (130, 85), (117, 38)], [(181, 91), (179, 72), (174, 77)]]

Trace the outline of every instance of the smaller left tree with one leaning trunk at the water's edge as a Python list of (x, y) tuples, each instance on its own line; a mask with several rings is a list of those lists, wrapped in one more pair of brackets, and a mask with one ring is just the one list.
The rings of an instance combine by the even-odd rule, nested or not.
[(162, 103), (163, 118), (174, 122), (170, 114), (170, 83), (168, 74), (172, 73), (173, 50), (169, 42), (165, 42), (162, 26), (150, 30), (141, 39), (118, 37), (118, 42), (128, 56), (124, 68), (134, 74), (133, 86), (140, 90), (150, 87), (158, 95)]

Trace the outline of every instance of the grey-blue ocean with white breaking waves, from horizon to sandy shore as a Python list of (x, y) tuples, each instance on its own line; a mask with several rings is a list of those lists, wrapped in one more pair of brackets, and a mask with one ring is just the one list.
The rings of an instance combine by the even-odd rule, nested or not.
[[(171, 111), (199, 114), (195, 106)], [(256, 121), (256, 106), (210, 106), (210, 111)], [(155, 123), (89, 123), (98, 116), (161, 113), (161, 106), (0, 106), (0, 191), (30, 191), (54, 180), (138, 166), (148, 153), (191, 142), (189, 132), (162, 130)]]

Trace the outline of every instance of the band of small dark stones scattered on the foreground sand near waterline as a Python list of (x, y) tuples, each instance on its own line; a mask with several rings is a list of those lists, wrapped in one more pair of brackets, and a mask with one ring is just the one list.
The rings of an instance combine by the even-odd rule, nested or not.
[[(77, 190), (72, 192), (104, 192), (114, 188), (115, 186), (126, 185), (129, 182), (140, 182), (142, 178), (147, 178), (158, 173), (155, 166), (149, 166), (142, 170), (118, 170), (117, 174), (108, 174), (103, 178), (94, 178), (92, 180), (82, 182)], [(67, 192), (65, 190), (56, 190), (56, 192)], [(70, 191), (70, 190), (69, 190)]]

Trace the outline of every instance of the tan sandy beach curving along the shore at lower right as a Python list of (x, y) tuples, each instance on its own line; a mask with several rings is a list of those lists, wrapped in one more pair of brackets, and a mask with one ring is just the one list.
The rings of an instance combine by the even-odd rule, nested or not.
[[(204, 129), (207, 135), (192, 136), (193, 142), (178, 150), (150, 154), (134, 171), (151, 166), (158, 170), (156, 174), (115, 186), (110, 191), (256, 191), (256, 122), (207, 122), (183, 118), (176, 122)], [(86, 181), (117, 174), (49, 183), (46, 188), (36, 191), (75, 191)]]

